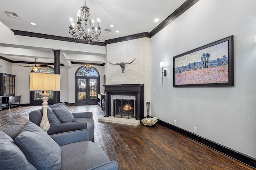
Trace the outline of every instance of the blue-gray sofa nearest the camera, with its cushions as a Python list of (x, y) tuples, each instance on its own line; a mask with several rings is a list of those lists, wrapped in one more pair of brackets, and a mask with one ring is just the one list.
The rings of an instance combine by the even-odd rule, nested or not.
[(88, 129), (47, 135), (23, 116), (0, 127), (0, 169), (118, 170)]

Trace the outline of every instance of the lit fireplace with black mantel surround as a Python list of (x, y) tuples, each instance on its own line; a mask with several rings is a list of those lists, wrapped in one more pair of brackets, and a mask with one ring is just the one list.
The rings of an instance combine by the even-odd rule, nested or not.
[(144, 118), (144, 84), (103, 86), (106, 92), (106, 117)]

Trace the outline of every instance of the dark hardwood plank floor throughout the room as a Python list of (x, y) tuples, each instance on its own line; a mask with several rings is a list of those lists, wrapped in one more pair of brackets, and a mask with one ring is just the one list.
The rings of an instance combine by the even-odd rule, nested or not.
[[(98, 105), (67, 106), (71, 112), (93, 112), (94, 143), (120, 170), (253, 170), (220, 152), (156, 123), (146, 127), (99, 122), (105, 115)], [(13, 107), (0, 111), (1, 125), (41, 106)]]

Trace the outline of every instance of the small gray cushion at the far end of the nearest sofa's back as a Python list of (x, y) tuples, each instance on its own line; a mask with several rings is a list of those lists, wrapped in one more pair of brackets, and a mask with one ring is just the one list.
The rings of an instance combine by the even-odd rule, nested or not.
[(23, 131), (24, 127), (26, 126), (28, 119), (24, 116), (19, 116), (15, 119), (12, 124), (8, 125), (2, 131), (9, 135), (13, 140)]

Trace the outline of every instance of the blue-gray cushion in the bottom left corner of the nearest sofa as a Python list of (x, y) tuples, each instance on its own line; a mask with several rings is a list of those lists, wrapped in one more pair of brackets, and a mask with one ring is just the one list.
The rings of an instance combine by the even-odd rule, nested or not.
[(6, 133), (0, 131), (0, 166), (2, 169), (36, 170), (26, 156)]

